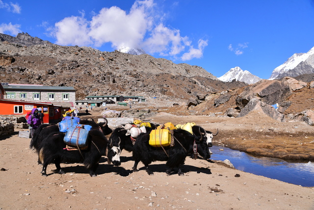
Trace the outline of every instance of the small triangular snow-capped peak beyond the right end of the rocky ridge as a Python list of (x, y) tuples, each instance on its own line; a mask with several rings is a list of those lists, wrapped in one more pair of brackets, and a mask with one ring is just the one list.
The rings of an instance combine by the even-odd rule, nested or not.
[(221, 81), (232, 81), (235, 79), (237, 81), (243, 81), (248, 84), (253, 84), (261, 80), (261, 78), (251, 74), (249, 71), (243, 71), (238, 66), (230, 69), (229, 72), (217, 79), (220, 79)]

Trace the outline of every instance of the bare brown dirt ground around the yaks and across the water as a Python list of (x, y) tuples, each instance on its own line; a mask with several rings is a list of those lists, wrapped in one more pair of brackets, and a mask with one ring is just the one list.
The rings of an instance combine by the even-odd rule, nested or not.
[[(312, 145), (309, 151), (313, 153), (313, 127), (300, 122), (280, 123), (259, 113), (225, 118), (160, 112), (147, 120), (195, 122), (213, 132), (218, 128), (214, 145), (242, 145), (238, 147), (243, 150), (251, 145), (250, 148), (272, 150), (279, 147), (275, 140), (282, 136), (288, 142), (287, 148), (305, 145), (306, 150), (311, 148), (307, 145)], [(314, 209), (314, 187), (245, 173), (201, 158), (186, 158), (185, 176), (166, 176), (165, 162), (159, 161), (151, 165), (154, 175), (149, 176), (142, 163), (138, 165), (139, 171), (133, 173), (131, 153), (123, 151), (119, 167), (108, 165), (103, 157), (95, 178), (80, 163), (61, 164), (64, 175), (53, 173), (55, 166), (49, 165), (49, 176), (43, 177), (37, 154), (29, 149), (30, 139), (18, 137), (18, 131), (0, 139), (0, 209), (3, 210)]]

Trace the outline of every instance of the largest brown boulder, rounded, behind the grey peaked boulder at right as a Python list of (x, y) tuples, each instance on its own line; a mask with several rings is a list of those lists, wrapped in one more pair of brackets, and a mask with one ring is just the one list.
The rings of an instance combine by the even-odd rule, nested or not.
[(287, 83), (278, 80), (262, 79), (246, 87), (236, 97), (235, 103), (240, 109), (243, 109), (252, 99), (258, 99), (266, 104), (274, 105), (286, 101), (291, 94), (292, 91)]

